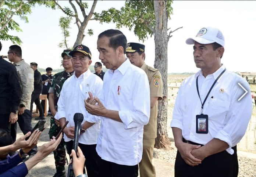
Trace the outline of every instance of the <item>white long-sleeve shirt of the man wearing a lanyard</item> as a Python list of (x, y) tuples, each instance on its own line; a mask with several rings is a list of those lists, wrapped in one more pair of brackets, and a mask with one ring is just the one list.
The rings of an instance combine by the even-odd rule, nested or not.
[[(199, 144), (206, 144), (213, 138), (225, 141), (229, 145), (226, 151), (233, 154), (231, 147), (237, 145), (244, 136), (252, 115), (250, 86), (241, 76), (226, 70), (218, 79), (203, 107), (203, 114), (208, 115), (209, 133), (196, 133), (196, 115), (200, 114), (202, 106), (196, 89), (196, 77), (199, 76), (199, 94), (203, 102), (213, 82), (224, 69), (223, 65), (206, 77), (200, 70), (182, 82), (175, 101), (171, 127), (181, 129), (186, 140)], [(238, 83), (248, 91), (240, 101), (238, 99), (245, 91)]]

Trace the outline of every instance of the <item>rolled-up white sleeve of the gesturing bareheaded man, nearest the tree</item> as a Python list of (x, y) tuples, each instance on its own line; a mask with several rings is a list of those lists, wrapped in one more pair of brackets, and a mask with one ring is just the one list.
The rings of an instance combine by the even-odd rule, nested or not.
[(146, 73), (138, 76), (136, 88), (132, 93), (132, 110), (119, 111), (119, 117), (124, 123), (125, 129), (143, 126), (149, 122), (150, 115), (150, 89)]

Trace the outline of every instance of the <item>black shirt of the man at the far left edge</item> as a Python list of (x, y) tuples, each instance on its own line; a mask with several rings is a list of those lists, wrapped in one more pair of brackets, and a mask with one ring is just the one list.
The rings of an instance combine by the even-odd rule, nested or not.
[(18, 111), (20, 98), (17, 70), (0, 56), (0, 115)]

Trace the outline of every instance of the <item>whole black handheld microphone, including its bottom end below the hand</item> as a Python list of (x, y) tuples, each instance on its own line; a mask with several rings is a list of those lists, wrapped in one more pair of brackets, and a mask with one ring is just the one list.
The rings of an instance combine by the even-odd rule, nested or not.
[[(80, 126), (83, 122), (83, 114), (81, 113), (75, 113), (74, 115), (74, 123), (75, 123), (75, 133), (74, 133), (74, 142), (73, 142), (73, 149), (75, 150), (75, 153), (77, 154), (77, 147), (78, 147), (78, 141), (79, 141), (79, 132), (80, 132)], [(73, 171), (73, 164), (68, 165), (68, 177), (74, 177), (74, 171)]]

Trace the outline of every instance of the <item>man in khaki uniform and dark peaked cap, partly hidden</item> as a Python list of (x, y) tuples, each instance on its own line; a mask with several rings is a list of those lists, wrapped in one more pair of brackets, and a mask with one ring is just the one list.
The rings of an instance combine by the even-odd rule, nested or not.
[(157, 100), (163, 98), (162, 76), (158, 69), (147, 66), (145, 61), (145, 46), (139, 43), (128, 43), (126, 56), (131, 64), (144, 70), (150, 86), (150, 118), (144, 126), (142, 160), (139, 163), (140, 177), (156, 177), (156, 170), (152, 164), (153, 149), (156, 138)]

